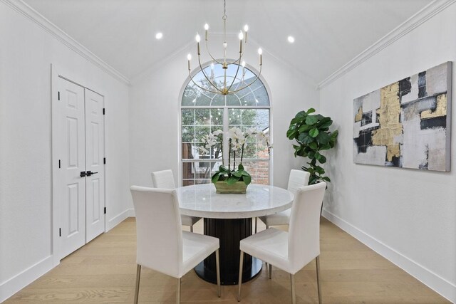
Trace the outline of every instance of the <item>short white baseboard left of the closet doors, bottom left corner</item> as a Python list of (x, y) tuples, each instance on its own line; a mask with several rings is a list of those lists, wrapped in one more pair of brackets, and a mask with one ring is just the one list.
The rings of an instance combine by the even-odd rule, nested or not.
[(9, 278), (0, 284), (0, 303), (14, 295), (26, 285), (43, 276), (54, 267), (53, 256), (43, 258), (33, 266), (28, 267), (16, 276)]

